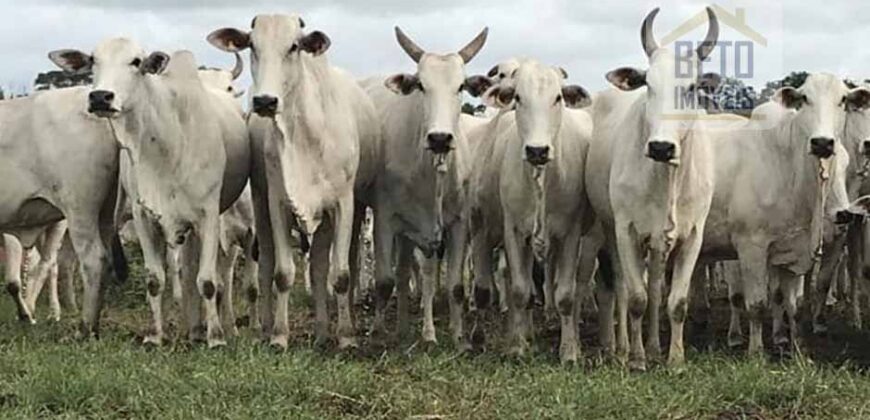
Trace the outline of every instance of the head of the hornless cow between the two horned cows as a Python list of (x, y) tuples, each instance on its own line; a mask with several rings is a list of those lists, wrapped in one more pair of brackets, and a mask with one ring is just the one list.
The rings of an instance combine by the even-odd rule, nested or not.
[(562, 126), (563, 109), (589, 106), (589, 93), (580, 86), (563, 86), (560, 69), (535, 61), (523, 63), (509, 77), (511, 82), (489, 89), (484, 101), (491, 107), (516, 109), (524, 159), (532, 166), (544, 166), (557, 153), (554, 139)]

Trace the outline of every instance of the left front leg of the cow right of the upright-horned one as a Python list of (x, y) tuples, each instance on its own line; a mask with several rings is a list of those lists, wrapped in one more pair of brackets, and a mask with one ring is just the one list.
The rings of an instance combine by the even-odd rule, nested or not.
[(748, 353), (750, 356), (758, 356), (764, 352), (762, 325), (768, 307), (769, 281), (767, 247), (766, 243), (751, 240), (738, 242), (736, 246), (740, 257), (740, 273), (743, 277), (745, 307), (749, 317)]

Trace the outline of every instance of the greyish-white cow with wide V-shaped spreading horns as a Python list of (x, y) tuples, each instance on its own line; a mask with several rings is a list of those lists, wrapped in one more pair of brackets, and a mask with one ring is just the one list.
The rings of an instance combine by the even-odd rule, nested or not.
[[(488, 79), (466, 78), (465, 64), (486, 42), (484, 29), (458, 53), (426, 52), (396, 28), (399, 45), (417, 64), (415, 74), (363, 83), (380, 113), (383, 164), (374, 206), (374, 331), (386, 331), (384, 313), (397, 289), (398, 330), (408, 329), (408, 293), (414, 249), (426, 258), (443, 252), (450, 291), (450, 327), (455, 344), (469, 348), (462, 327), (465, 289), (461, 281), (466, 247), (466, 184), (469, 146), (460, 128), (461, 93), (479, 95)], [(398, 262), (394, 269), (394, 247)], [(431, 263), (431, 262), (430, 262)], [(435, 342), (434, 279), (424, 276), (423, 340)]]

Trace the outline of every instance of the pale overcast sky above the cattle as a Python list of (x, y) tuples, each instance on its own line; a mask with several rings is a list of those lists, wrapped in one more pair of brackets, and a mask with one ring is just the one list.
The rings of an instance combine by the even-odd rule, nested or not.
[[(662, 7), (656, 21), (661, 38), (705, 4), (696, 0), (0, 0), (5, 23), (0, 25), (0, 85), (16, 92), (29, 90), (36, 73), (53, 68), (46, 58), (49, 51), (89, 52), (101, 39), (114, 36), (133, 38), (146, 50), (189, 49), (202, 64), (230, 66), (231, 56), (205, 41), (209, 32), (225, 26), (247, 29), (258, 13), (299, 13), (309, 29), (322, 30), (332, 39), (331, 62), (359, 78), (413, 71), (393, 38), (395, 25), (432, 51), (455, 51), (489, 26), (489, 41), (469, 66), (469, 74), (485, 72), (505, 58), (527, 56), (560, 65), (568, 70), (572, 83), (599, 90), (606, 85), (607, 71), (646, 66), (639, 27), (649, 10)], [(746, 23), (768, 38), (767, 47), (756, 46), (751, 84), (790, 70), (870, 76), (870, 3), (726, 0), (717, 4), (727, 10), (745, 7)], [(702, 25), (686, 38), (700, 40), (705, 30)], [(747, 39), (730, 28), (723, 28), (721, 38)]]

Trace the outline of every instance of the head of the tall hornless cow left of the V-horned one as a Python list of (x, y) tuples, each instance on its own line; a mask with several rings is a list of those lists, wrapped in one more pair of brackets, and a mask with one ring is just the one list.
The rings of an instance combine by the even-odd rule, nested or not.
[(285, 98), (299, 84), (301, 60), (329, 50), (331, 41), (325, 33), (304, 29), (305, 21), (298, 15), (258, 15), (249, 32), (223, 28), (208, 36), (212, 45), (224, 51), (251, 50), (251, 109), (257, 115), (281, 114)]

